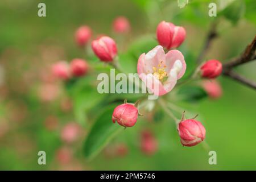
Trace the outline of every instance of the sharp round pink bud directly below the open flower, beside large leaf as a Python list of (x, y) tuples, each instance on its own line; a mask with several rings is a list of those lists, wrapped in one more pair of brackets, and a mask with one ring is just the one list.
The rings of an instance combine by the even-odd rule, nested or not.
[(118, 122), (119, 125), (124, 127), (134, 126), (138, 118), (138, 109), (133, 104), (121, 104), (115, 107), (112, 121)]

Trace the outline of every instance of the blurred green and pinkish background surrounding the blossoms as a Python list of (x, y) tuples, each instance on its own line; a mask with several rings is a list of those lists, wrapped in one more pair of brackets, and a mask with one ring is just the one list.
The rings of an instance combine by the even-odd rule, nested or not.
[[(38, 16), (39, 2), (46, 3), (46, 17)], [(242, 9), (233, 11), (239, 17), (231, 21), (218, 17), (224, 1), (209, 2), (217, 3), (220, 22), (218, 37), (204, 60), (225, 62), (240, 55), (255, 36), (255, 1), (242, 1)], [(82, 149), (86, 135), (104, 106), (93, 105), (98, 95), (84, 95), (87, 88), (83, 83), (96, 81), (97, 76), (71, 85), (79, 90), (73, 95), (81, 95), (75, 100), (67, 91), (70, 85), (52, 81), (49, 76), (49, 67), (56, 61), (90, 59), (74, 41), (76, 29), (83, 24), (92, 28), (94, 38), (100, 34), (112, 36), (120, 52), (125, 52), (134, 41), (151, 38), (156, 42), (155, 30), (160, 21), (174, 22), (187, 30), (187, 39), (180, 49), (189, 52), (190, 57), (185, 57), (189, 65), (189, 61), (195, 61), (192, 57), (199, 55), (215, 19), (208, 16), (209, 2), (191, 0), (180, 9), (177, 1), (169, 0), (0, 1), (0, 169), (255, 170), (256, 93), (230, 78), (218, 78), (223, 90), (218, 100), (175, 103), (200, 114), (210, 150), (217, 152), (217, 165), (209, 165), (209, 150), (202, 144), (182, 147), (174, 123), (162, 112), (160, 117), (144, 114), (135, 127), (118, 133), (100, 154), (86, 159)], [(131, 32), (125, 38), (112, 30), (112, 22), (119, 15), (126, 16), (131, 23)], [(154, 47), (148, 46), (147, 51)], [(90, 64), (99, 62), (95, 57), (92, 60)], [(134, 63), (127, 63), (128, 67)], [(256, 81), (255, 68), (254, 61), (236, 71)], [(104, 99), (101, 97), (102, 102)], [(84, 103), (87, 105), (81, 106)], [(75, 143), (61, 139), (61, 131), (70, 122), (79, 125)], [(144, 128), (151, 129), (158, 140), (154, 155), (145, 155), (140, 150), (139, 136)], [(127, 151), (116, 154), (120, 144), (125, 144)], [(38, 164), (40, 150), (46, 151), (46, 165)]]

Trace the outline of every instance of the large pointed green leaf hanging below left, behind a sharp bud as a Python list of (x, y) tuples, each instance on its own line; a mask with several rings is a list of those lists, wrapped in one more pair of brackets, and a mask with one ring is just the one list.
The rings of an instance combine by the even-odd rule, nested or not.
[(113, 110), (117, 105), (110, 105), (92, 126), (84, 144), (84, 155), (93, 159), (124, 128), (112, 122)]

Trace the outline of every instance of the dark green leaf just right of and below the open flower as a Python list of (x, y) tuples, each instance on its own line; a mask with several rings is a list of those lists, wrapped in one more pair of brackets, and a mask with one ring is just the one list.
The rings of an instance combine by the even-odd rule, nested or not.
[(200, 86), (183, 86), (177, 92), (177, 95), (183, 101), (196, 102), (207, 97), (207, 93)]

